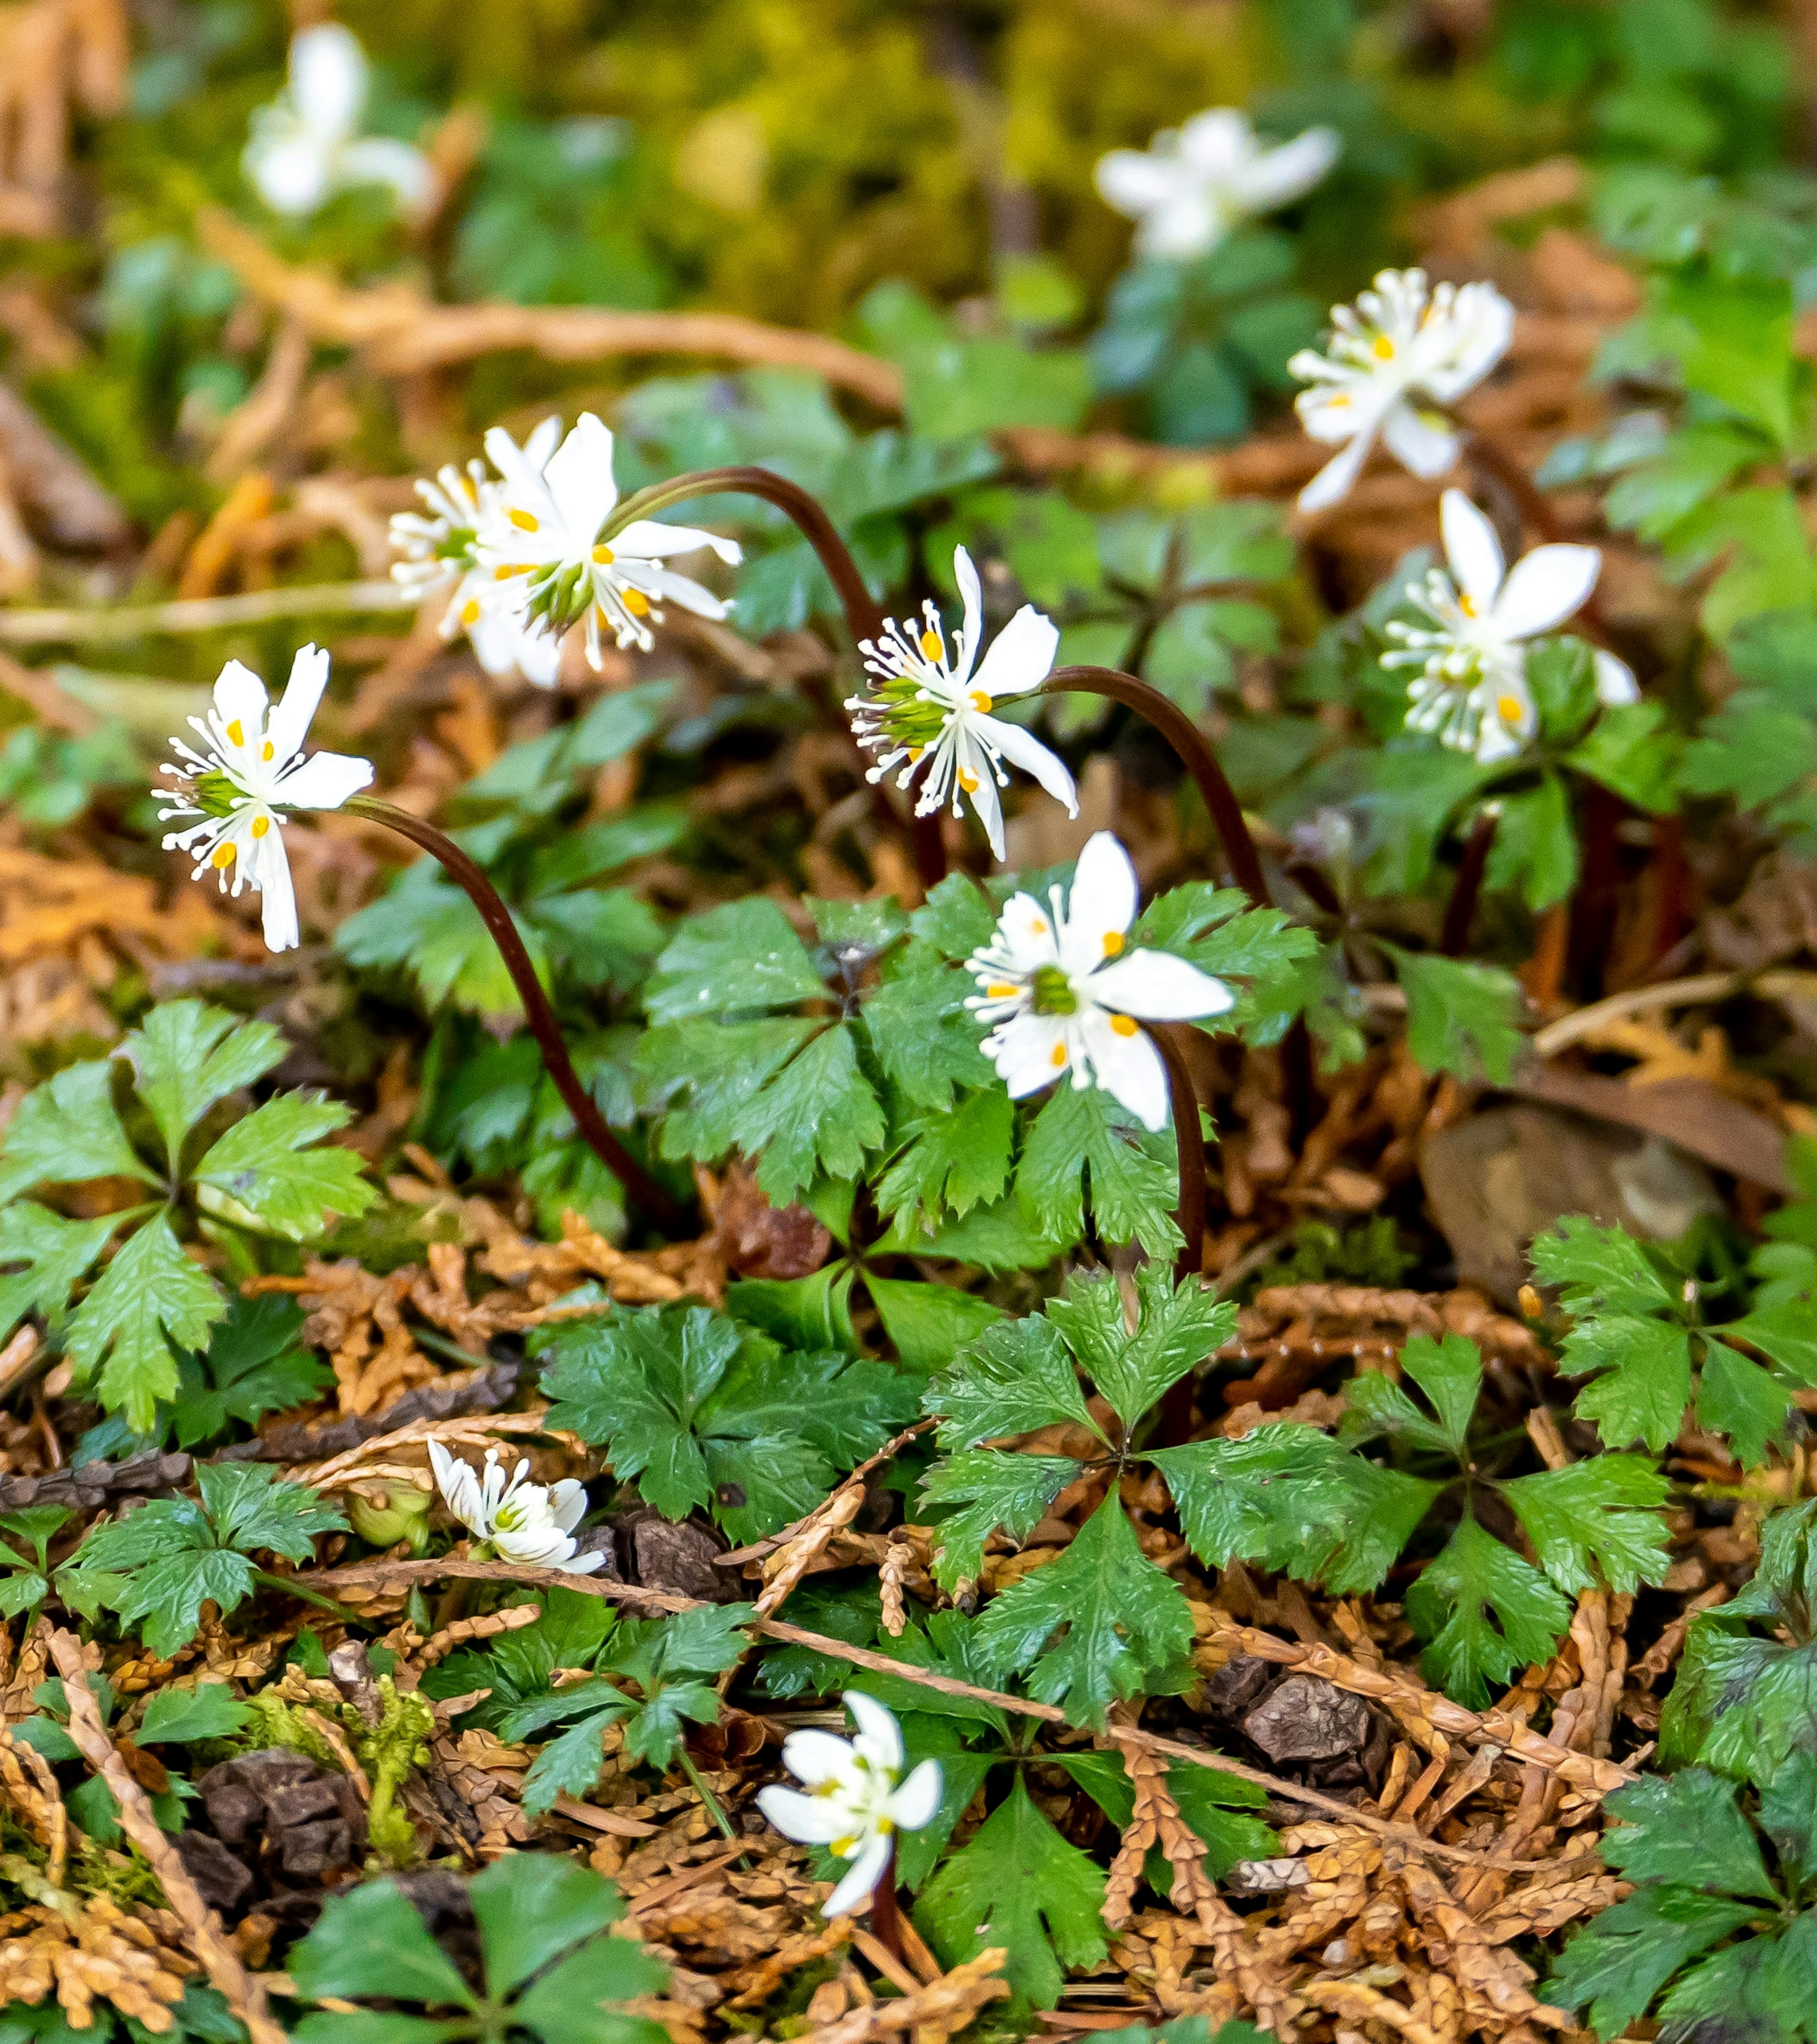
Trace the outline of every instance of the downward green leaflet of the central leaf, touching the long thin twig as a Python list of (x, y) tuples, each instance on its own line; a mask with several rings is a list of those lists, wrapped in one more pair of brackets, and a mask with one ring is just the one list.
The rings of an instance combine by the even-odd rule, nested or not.
[(1192, 1645), (1179, 1584), (1136, 1545), (1116, 1490), (1046, 1568), (991, 1600), (979, 1645), (995, 1668), (1030, 1670), (1028, 1688), (1075, 1725), (1104, 1725), (1120, 1697)]

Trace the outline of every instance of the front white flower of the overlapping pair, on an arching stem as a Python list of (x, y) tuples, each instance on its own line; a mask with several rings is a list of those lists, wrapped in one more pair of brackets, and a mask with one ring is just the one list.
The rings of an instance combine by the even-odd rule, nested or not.
[(493, 427), (486, 454), (503, 476), (476, 546), (478, 562), (499, 583), (519, 583), (523, 609), (548, 632), (560, 634), (587, 619), (587, 658), (599, 666), (599, 625), (617, 644), (656, 644), (652, 623), (662, 623), (658, 603), (679, 603), (697, 617), (724, 617), (728, 605), (685, 574), (664, 568), (670, 554), (709, 546), (719, 560), (738, 564), (736, 540), (721, 540), (697, 525), (634, 519), (601, 542), (599, 533), (619, 501), (611, 474), (611, 433), (591, 411), (552, 454), (538, 437), (529, 448)]

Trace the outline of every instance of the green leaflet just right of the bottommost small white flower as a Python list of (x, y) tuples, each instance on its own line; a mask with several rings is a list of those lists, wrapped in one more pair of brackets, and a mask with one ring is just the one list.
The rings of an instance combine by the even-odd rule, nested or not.
[(922, 1889), (916, 1927), (948, 1968), (1004, 1946), (1010, 1985), (1051, 2009), (1067, 1970), (1104, 1958), (1102, 1909), (1102, 1870), (1040, 1815), (1018, 1774), (1004, 1803)]

